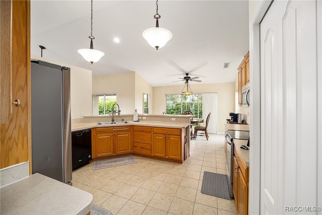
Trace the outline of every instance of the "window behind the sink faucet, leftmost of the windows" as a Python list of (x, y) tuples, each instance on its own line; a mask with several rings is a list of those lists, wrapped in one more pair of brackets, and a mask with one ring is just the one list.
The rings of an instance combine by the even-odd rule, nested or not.
[(112, 112), (116, 103), (116, 93), (93, 94), (93, 115), (106, 115)]

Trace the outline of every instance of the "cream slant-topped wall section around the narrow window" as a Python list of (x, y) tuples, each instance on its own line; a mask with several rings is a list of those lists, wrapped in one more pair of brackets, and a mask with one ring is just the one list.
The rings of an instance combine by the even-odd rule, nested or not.
[[(143, 93), (150, 94), (150, 100), (153, 98), (153, 88), (141, 76), (135, 73), (135, 108), (139, 114), (143, 113)], [(152, 111), (152, 101), (150, 101), (150, 113)], [(134, 111), (134, 110), (133, 110)]]

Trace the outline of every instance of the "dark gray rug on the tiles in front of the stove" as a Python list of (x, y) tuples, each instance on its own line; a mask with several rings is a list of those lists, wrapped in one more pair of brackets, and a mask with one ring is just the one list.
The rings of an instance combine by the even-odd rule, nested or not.
[(205, 171), (201, 193), (230, 200), (227, 175)]

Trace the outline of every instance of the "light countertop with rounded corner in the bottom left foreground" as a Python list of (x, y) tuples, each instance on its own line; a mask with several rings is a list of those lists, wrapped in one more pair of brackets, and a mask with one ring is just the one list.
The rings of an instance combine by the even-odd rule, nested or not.
[(1, 188), (1, 214), (87, 214), (93, 195), (35, 173)]

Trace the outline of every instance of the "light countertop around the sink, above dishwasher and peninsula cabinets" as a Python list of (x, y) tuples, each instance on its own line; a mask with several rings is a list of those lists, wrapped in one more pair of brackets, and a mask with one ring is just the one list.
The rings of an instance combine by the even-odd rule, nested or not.
[(97, 125), (97, 122), (87, 122), (71, 125), (71, 131), (83, 130), (87, 128), (94, 127), (113, 127), (113, 126), (128, 126), (128, 125), (141, 125), (141, 126), (153, 126), (153, 127), (168, 127), (168, 128), (186, 128), (189, 126), (189, 123), (184, 122), (159, 122), (159, 121), (138, 121), (134, 122), (128, 120), (129, 123), (126, 124), (111, 124), (111, 125)]

